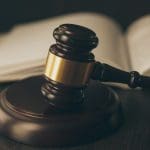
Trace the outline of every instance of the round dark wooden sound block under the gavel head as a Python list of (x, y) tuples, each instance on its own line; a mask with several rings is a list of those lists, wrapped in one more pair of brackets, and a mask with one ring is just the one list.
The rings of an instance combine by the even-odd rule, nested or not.
[(116, 93), (90, 81), (82, 109), (61, 112), (41, 93), (44, 77), (19, 81), (0, 94), (0, 132), (34, 146), (73, 146), (92, 142), (115, 131), (123, 121)]

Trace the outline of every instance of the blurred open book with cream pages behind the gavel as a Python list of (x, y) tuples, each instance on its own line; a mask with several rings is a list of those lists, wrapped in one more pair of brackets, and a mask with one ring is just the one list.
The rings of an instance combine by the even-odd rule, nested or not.
[(15, 26), (0, 35), (0, 82), (43, 74), (53, 30), (63, 23), (86, 26), (96, 32), (97, 61), (150, 75), (150, 15), (133, 22), (125, 33), (111, 18), (95, 13), (75, 13)]

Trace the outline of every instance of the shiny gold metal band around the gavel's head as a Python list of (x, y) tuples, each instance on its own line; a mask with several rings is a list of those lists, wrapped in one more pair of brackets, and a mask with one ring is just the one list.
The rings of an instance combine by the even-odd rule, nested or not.
[(64, 85), (80, 87), (87, 84), (94, 62), (78, 62), (59, 57), (49, 52), (45, 75), (49, 79)]

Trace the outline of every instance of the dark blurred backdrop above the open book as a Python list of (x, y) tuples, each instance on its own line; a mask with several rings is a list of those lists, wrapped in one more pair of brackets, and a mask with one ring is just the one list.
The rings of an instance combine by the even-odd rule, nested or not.
[(149, 0), (1, 0), (0, 31), (14, 24), (57, 16), (69, 12), (104, 13), (124, 29), (135, 19), (150, 13)]

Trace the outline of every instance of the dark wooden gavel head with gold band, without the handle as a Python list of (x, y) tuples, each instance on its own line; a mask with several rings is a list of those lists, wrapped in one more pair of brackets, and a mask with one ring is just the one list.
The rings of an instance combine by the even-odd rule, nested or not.
[[(71, 94), (77, 95), (75, 99), (81, 102), (81, 93), (95, 64), (91, 51), (97, 46), (98, 38), (92, 30), (74, 24), (60, 25), (54, 30), (53, 36), (56, 44), (49, 49), (44, 73), (47, 82), (42, 86), (42, 93), (54, 105), (61, 102), (68, 104), (68, 98), (74, 99)], [(70, 96), (66, 98), (67, 95)]]

